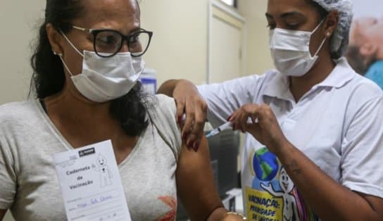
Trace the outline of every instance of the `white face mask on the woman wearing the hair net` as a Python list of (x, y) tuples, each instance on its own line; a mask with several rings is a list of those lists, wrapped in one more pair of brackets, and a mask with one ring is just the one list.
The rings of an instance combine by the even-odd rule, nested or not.
[(322, 25), (319, 23), (313, 32), (297, 30), (284, 30), (275, 28), (270, 30), (270, 51), (274, 65), (282, 74), (293, 77), (301, 77), (313, 68), (318, 59), (318, 53), (325, 44), (323, 39), (314, 56), (310, 53), (311, 35)]

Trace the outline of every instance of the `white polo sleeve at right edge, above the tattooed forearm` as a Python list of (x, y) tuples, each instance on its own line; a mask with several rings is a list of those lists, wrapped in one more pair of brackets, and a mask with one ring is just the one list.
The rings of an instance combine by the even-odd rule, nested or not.
[(341, 183), (352, 191), (383, 198), (383, 97), (363, 103), (345, 133)]

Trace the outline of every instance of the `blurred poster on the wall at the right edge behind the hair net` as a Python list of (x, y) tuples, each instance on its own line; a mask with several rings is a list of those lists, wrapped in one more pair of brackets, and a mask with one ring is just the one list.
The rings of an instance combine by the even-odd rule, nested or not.
[(383, 1), (353, 0), (353, 4), (346, 58), (358, 74), (383, 89)]

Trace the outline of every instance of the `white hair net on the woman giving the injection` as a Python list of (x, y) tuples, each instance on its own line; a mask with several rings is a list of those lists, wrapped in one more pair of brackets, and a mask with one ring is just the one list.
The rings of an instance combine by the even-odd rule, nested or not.
[(332, 34), (331, 52), (341, 57), (349, 46), (349, 32), (353, 20), (353, 3), (351, 0), (312, 0), (318, 3), (327, 12), (338, 11), (339, 22)]

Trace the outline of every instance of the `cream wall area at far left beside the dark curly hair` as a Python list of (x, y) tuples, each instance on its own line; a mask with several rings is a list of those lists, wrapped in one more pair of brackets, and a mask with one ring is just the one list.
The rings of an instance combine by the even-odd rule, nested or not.
[(44, 6), (44, 0), (0, 1), (0, 104), (27, 98), (30, 44)]

